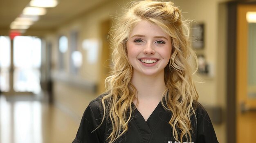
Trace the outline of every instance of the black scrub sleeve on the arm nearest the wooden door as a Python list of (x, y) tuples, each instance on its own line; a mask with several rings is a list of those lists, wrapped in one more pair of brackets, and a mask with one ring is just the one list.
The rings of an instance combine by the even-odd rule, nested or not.
[(198, 105), (197, 114), (197, 143), (219, 143), (207, 111)]

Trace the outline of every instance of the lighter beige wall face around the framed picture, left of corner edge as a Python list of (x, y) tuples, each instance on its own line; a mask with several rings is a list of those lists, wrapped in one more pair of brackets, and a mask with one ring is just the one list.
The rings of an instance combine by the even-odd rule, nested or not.
[(195, 81), (203, 82), (196, 84), (200, 95), (199, 101), (207, 105), (216, 105), (218, 3), (215, 0), (174, 0), (174, 2), (180, 7), (186, 19), (194, 21), (191, 24), (195, 22), (204, 24), (204, 48), (197, 50), (196, 53), (204, 54), (213, 75), (198, 75)]

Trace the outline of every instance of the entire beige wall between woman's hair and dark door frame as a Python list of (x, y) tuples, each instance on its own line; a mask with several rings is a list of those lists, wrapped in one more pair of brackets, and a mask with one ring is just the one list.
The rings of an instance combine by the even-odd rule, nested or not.
[[(220, 143), (226, 142), (226, 5), (227, 0), (175, 0), (184, 17), (204, 23), (204, 49), (196, 51), (204, 54), (211, 73), (209, 76), (195, 76), (199, 102), (204, 106), (222, 108), (221, 124), (213, 124)], [(193, 24), (193, 22), (192, 22)]]

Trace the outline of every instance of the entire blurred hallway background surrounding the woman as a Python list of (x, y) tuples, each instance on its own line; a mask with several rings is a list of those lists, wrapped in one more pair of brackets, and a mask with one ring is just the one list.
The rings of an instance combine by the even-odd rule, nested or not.
[[(71, 143), (104, 92), (108, 31), (130, 0), (0, 0), (0, 143)], [(173, 0), (220, 143), (256, 140), (256, 0)]]

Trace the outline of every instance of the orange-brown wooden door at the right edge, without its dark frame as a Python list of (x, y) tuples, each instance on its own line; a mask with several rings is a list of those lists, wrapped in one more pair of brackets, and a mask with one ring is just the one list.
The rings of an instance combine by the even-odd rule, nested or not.
[(256, 141), (256, 23), (248, 23), (246, 14), (256, 5), (237, 10), (236, 142), (249, 143)]

